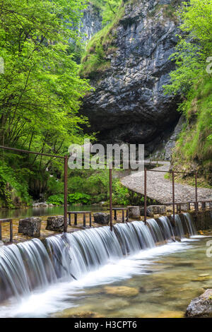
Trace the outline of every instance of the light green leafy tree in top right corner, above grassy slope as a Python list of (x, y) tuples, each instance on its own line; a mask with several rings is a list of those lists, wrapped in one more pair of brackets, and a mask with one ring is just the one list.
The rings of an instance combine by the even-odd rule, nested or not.
[(172, 54), (177, 68), (165, 90), (185, 97), (192, 85), (206, 76), (206, 59), (212, 54), (212, 1), (183, 2), (177, 14), (182, 22), (182, 35)]

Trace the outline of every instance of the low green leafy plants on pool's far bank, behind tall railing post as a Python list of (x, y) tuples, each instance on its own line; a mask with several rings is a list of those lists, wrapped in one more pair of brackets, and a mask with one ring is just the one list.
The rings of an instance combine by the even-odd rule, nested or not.
[[(64, 195), (63, 194), (57, 194), (49, 196), (47, 199), (47, 203), (52, 203), (54, 205), (63, 205), (64, 203)], [(82, 204), (89, 204), (90, 203), (90, 195), (87, 194), (81, 194), (81, 193), (74, 193), (68, 195), (68, 203), (69, 204), (76, 204), (76, 203), (82, 203)]]

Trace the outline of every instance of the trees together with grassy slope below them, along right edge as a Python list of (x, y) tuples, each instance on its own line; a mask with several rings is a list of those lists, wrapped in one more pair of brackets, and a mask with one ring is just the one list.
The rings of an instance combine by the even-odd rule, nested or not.
[(206, 71), (206, 59), (212, 54), (212, 1), (184, 2), (178, 16), (183, 35), (172, 54), (177, 68), (172, 71), (171, 84), (165, 91), (182, 96), (184, 102), (179, 111), (184, 113), (187, 125), (179, 136), (172, 162), (175, 168), (188, 171), (194, 169), (194, 161), (201, 169), (210, 171), (212, 76)]

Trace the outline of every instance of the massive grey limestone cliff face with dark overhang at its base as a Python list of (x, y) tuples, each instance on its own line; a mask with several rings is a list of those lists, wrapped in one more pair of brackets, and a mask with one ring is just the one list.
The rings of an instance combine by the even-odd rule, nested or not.
[(164, 95), (163, 85), (175, 67), (169, 59), (177, 44), (177, 0), (131, 1), (124, 8), (107, 53), (110, 68), (90, 81), (95, 92), (83, 100), (81, 113), (90, 131), (106, 142), (146, 143), (153, 153), (179, 120), (178, 97)]

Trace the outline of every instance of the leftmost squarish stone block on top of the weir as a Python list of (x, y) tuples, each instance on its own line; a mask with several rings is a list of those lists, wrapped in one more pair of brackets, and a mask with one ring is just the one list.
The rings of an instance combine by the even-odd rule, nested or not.
[(41, 218), (31, 217), (19, 220), (18, 233), (29, 237), (40, 237)]

